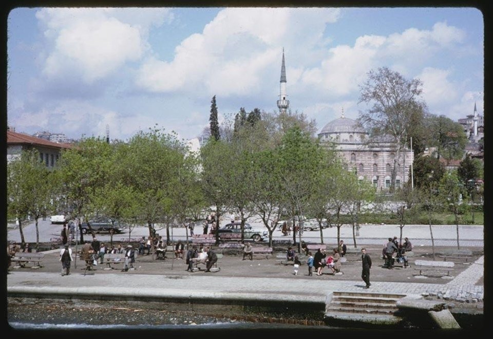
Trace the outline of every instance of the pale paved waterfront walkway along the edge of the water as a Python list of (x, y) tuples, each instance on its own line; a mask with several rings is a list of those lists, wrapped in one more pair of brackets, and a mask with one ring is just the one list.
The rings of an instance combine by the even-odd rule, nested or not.
[[(414, 295), (438, 295), (444, 299), (468, 302), (482, 301), (484, 286), (475, 285), (483, 276), (483, 260), (479, 258), (447, 284), (391, 283), (375, 281), (365, 292)], [(363, 281), (309, 280), (268, 277), (225, 277), (211, 275), (183, 276), (173, 274), (108, 273), (71, 274), (14, 271), (7, 276), (9, 295), (85, 295), (153, 297), (169, 299), (249, 299), (299, 302), (325, 302), (333, 291), (362, 292)]]

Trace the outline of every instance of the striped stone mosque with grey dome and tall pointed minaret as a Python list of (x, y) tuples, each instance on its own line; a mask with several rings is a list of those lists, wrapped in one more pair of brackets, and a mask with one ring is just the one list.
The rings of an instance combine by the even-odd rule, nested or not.
[[(289, 109), (286, 89), (286, 65), (284, 50), (282, 51), (280, 93), (277, 107), (280, 112)], [(354, 171), (359, 180), (368, 180), (377, 190), (388, 191), (391, 183), (392, 167), (396, 155), (395, 144), (388, 138), (380, 138), (377, 142), (368, 143), (369, 133), (353, 119), (344, 116), (328, 122), (318, 133), (322, 143), (335, 143), (348, 171)], [(414, 155), (407, 147), (401, 151), (397, 159), (397, 175), (395, 187), (399, 188), (409, 180)]]

